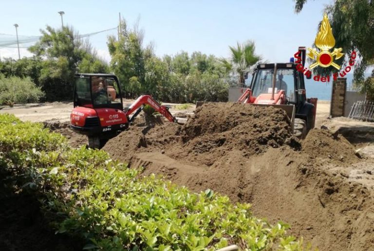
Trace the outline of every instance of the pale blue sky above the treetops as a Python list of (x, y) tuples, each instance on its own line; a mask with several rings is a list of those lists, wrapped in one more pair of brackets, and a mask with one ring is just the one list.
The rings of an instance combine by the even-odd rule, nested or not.
[[(294, 13), (293, 0), (13, 0), (2, 1), (0, 33), (40, 35), (48, 24), (60, 27), (58, 11), (64, 11), (64, 24), (73, 25), (80, 34), (117, 26), (118, 13), (132, 27), (140, 18), (145, 44), (153, 42), (155, 53), (191, 53), (227, 57), (228, 46), (248, 39), (256, 42), (256, 51), (264, 59), (285, 62), (298, 46), (311, 46), (323, 9), (331, 0), (309, 0), (301, 13)], [(108, 35), (90, 37), (98, 53), (109, 60)], [(1, 39), (1, 36), (0, 36)], [(17, 49), (0, 48), (0, 56), (17, 57)], [(21, 49), (21, 56), (29, 55)]]

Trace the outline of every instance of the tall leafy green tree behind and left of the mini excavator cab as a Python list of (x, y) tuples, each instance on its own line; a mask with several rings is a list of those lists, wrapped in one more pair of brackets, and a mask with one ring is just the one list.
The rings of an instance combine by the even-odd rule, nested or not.
[(50, 101), (71, 99), (75, 73), (79, 71), (106, 73), (109, 69), (80, 38), (72, 27), (40, 30), (42, 37), (29, 51), (40, 63), (36, 83), (46, 92)]

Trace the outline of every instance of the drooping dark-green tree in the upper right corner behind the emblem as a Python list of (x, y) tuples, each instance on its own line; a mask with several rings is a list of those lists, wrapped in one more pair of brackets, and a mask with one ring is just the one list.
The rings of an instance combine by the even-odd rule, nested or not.
[[(306, 1), (296, 0), (296, 13), (302, 10)], [(356, 59), (354, 72), (356, 84), (373, 96), (374, 71), (366, 80), (364, 73), (369, 66), (374, 65), (374, 1), (336, 0), (326, 6), (325, 12), (336, 40), (335, 47), (341, 47), (346, 54), (351, 54), (354, 50), (358, 52), (360, 60)], [(349, 57), (342, 58), (342, 63), (347, 64), (348, 60)]]

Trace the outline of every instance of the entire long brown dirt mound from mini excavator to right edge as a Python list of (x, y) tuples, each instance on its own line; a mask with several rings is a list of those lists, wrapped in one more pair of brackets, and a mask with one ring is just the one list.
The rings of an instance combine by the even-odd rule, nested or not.
[(359, 168), (374, 173), (373, 161), (361, 164), (349, 142), (324, 130), (312, 130), (300, 145), (280, 109), (205, 104), (183, 126), (138, 118), (104, 150), (145, 167), (144, 175), (252, 203), (256, 215), (290, 223), (321, 250), (374, 243), (373, 191), (352, 175)]

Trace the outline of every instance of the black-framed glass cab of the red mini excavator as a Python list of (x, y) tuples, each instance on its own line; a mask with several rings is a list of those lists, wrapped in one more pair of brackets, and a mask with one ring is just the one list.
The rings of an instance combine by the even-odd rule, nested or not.
[(74, 107), (123, 110), (117, 77), (112, 74), (76, 74)]

